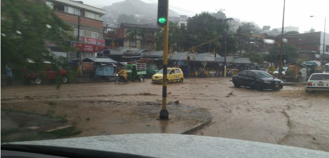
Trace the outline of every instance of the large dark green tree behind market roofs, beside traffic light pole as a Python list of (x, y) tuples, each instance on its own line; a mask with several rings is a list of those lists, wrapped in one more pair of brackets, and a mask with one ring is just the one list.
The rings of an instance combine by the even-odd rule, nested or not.
[[(175, 23), (169, 22), (168, 44), (177, 44), (177, 50), (189, 50), (192, 46), (223, 36), (223, 38), (227, 37), (227, 53), (235, 51), (235, 38), (233, 36), (228, 37), (225, 32), (225, 30), (228, 30), (226, 20), (217, 19), (208, 12), (202, 12), (189, 18), (187, 25), (181, 24), (178, 27)], [(157, 50), (163, 49), (163, 37), (163, 32), (157, 33), (155, 39)], [(219, 54), (223, 54), (223, 40), (216, 40), (197, 47), (202, 52), (212, 52), (214, 48)]]

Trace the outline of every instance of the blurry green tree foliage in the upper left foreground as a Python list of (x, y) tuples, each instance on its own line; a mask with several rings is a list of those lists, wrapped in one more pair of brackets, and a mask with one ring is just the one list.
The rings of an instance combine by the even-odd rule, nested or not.
[[(42, 60), (52, 58), (46, 43), (53, 43), (63, 51), (74, 50), (68, 31), (72, 28), (60, 20), (55, 12), (40, 0), (1, 0), (1, 67), (11, 63), (16, 71), (30, 66), (30, 70), (45, 69)], [(54, 67), (57, 68), (57, 67)]]

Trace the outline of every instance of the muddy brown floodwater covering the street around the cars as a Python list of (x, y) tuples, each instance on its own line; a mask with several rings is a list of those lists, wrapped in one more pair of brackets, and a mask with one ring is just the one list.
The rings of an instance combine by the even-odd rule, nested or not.
[[(282, 90), (234, 88), (230, 78), (187, 78), (168, 84), (168, 102), (207, 109), (212, 121), (193, 135), (227, 137), (329, 151), (329, 93), (306, 93), (303, 85)], [(162, 85), (130, 82), (16, 86), (1, 88), (1, 103), (105, 100), (153, 102)], [(1, 104), (1, 108), (5, 108)], [(28, 111), (28, 106), (24, 108)], [(92, 114), (92, 113), (90, 113)], [(97, 115), (97, 113), (95, 113)], [(170, 111), (169, 111), (170, 115)], [(90, 116), (92, 117), (92, 116)], [(97, 124), (93, 124), (97, 126)]]

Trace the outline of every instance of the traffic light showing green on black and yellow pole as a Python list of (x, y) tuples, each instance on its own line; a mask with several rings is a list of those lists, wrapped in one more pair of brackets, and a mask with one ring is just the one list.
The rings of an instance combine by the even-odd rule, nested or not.
[(168, 23), (168, 0), (158, 0), (158, 20), (160, 26), (165, 26)]

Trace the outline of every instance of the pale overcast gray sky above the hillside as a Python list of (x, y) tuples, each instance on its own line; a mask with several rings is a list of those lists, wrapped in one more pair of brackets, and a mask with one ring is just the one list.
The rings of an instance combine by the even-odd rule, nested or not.
[[(110, 5), (122, 0), (82, 0), (91, 5)], [(142, 0), (147, 3), (158, 0)], [(283, 0), (169, 0), (169, 8), (182, 15), (193, 16), (202, 11), (217, 12), (225, 9), (227, 17), (252, 21), (260, 27), (282, 26)], [(319, 16), (310, 18), (309, 16)], [(322, 17), (321, 17), (322, 16)], [(286, 0), (284, 26), (297, 26), (299, 32), (324, 31), (325, 17), (329, 18), (329, 0)], [(326, 25), (329, 32), (329, 22)]]

